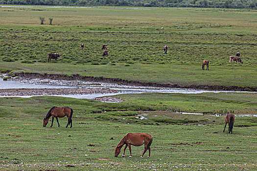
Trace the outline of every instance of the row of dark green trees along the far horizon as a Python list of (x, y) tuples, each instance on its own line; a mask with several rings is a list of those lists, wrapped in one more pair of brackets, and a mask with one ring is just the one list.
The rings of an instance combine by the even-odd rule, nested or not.
[(0, 4), (257, 9), (257, 0), (0, 0)]

